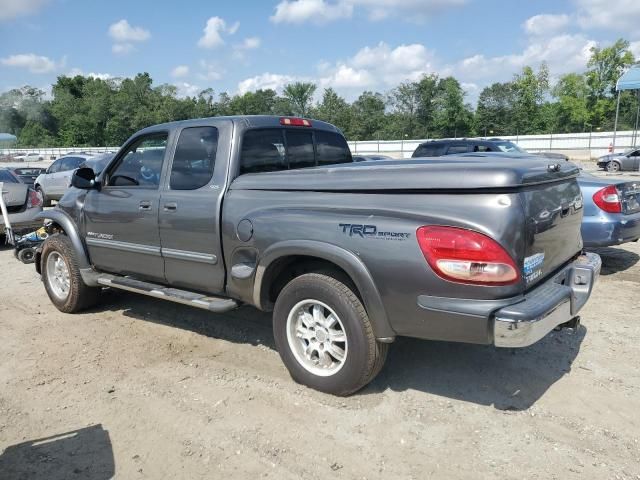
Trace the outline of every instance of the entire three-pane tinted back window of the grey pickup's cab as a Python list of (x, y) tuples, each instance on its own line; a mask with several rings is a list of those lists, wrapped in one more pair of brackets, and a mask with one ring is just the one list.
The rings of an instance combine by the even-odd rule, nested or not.
[(351, 151), (337, 132), (263, 128), (245, 132), (240, 175), (351, 163)]

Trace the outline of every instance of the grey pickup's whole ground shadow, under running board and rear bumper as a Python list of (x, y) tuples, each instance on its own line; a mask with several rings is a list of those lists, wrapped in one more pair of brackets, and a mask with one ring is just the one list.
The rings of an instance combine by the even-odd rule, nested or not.
[[(135, 294), (105, 293), (96, 310), (118, 311), (126, 305), (127, 317), (275, 350), (270, 313), (241, 307), (215, 315)], [(525, 410), (571, 371), (586, 333), (584, 326), (573, 333), (552, 332), (524, 349), (399, 338), (380, 375), (356, 395), (417, 390), (500, 410)]]

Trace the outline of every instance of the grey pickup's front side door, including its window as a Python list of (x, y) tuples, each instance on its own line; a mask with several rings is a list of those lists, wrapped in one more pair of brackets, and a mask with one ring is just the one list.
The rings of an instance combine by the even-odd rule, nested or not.
[(164, 283), (158, 204), (168, 133), (132, 140), (87, 193), (85, 238), (100, 270)]

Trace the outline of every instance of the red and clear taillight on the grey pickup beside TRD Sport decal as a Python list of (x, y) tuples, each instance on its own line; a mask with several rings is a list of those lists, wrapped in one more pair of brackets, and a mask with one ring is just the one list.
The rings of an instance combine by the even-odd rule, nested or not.
[(511, 256), (482, 233), (428, 226), (418, 228), (416, 237), (431, 268), (446, 280), (474, 285), (511, 285), (520, 280)]

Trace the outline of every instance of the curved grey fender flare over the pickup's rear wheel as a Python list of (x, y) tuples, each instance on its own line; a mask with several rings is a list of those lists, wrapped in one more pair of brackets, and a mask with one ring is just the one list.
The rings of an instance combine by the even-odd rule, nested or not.
[(267, 288), (264, 285), (264, 274), (269, 266), (279, 258), (288, 256), (315, 257), (342, 268), (355, 283), (362, 296), (362, 301), (371, 320), (376, 338), (387, 341), (395, 338), (396, 333), (389, 324), (382, 298), (366, 265), (353, 252), (330, 243), (315, 240), (286, 240), (268, 247), (261, 256), (256, 268), (253, 290), (255, 305), (264, 308), (264, 305), (262, 305), (262, 290)]

